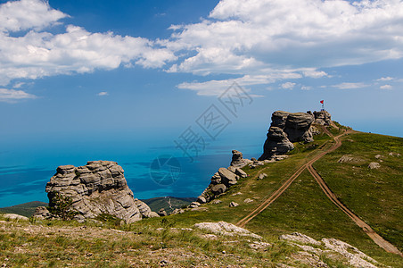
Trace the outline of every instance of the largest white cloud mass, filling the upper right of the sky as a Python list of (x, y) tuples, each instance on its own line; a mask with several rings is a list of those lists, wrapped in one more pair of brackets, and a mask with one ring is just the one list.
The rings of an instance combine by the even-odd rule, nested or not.
[(181, 54), (169, 71), (292, 69), (322, 78), (323, 67), (403, 57), (402, 20), (398, 0), (222, 0), (209, 18), (172, 26), (171, 38), (160, 44)]

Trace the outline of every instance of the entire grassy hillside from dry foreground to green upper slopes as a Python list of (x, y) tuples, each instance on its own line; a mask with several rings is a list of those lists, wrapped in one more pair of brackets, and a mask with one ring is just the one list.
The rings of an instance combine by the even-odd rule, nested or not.
[[(339, 130), (331, 132), (336, 135)], [(314, 163), (315, 169), (344, 205), (401, 250), (403, 161), (399, 155), (403, 155), (403, 138), (357, 132), (341, 139), (342, 146)], [(295, 150), (288, 159), (255, 169), (245, 167), (243, 170), (250, 176), (240, 179), (218, 197), (221, 203), (202, 205), (185, 214), (144, 219), (130, 225), (119, 225), (119, 221), (12, 223), (17, 227), (21, 224), (19, 228), (24, 231), (0, 228), (0, 262), (12, 256), (11, 264), (15, 266), (29, 263), (34, 266), (160, 267), (165, 265), (161, 264), (164, 260), (172, 267), (315, 266), (298, 259), (300, 248), (278, 239), (284, 233), (298, 231), (317, 240), (341, 239), (373, 257), (380, 267), (403, 267), (403, 258), (378, 247), (333, 205), (308, 171), (302, 172), (281, 197), (246, 225), (246, 229), (261, 235), (262, 241), (271, 246), (255, 250), (250, 246), (251, 239), (224, 236), (210, 239), (206, 232), (194, 230), (193, 224), (198, 222), (238, 222), (301, 165), (332, 147), (333, 139), (321, 134), (314, 143), (294, 145)], [(351, 157), (350, 162), (338, 163), (343, 155)], [(381, 167), (370, 170), (370, 162), (380, 163)], [(261, 172), (266, 173), (267, 178), (257, 180)], [(244, 202), (247, 198), (253, 201)], [(154, 211), (161, 206), (168, 211), (168, 200), (158, 197), (144, 201)], [(170, 198), (173, 207), (191, 201)], [(229, 207), (232, 201), (239, 205)], [(32, 231), (25, 231), (28, 229)], [(335, 260), (329, 255), (319, 255), (318, 259), (329, 267), (350, 267), (342, 258)]]

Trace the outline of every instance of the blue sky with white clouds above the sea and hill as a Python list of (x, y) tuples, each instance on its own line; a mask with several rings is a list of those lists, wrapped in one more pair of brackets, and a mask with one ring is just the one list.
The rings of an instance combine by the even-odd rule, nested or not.
[(0, 138), (175, 137), (234, 82), (253, 104), (231, 131), (325, 99), (403, 137), (402, 57), (397, 0), (0, 1)]

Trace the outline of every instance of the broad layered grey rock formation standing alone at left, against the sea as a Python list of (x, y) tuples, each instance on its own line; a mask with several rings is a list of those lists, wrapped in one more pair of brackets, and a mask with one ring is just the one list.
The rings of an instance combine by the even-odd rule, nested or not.
[(56, 193), (72, 198), (77, 219), (111, 214), (127, 223), (158, 216), (148, 205), (135, 199), (127, 187), (123, 169), (116, 162), (90, 161), (85, 166), (62, 165), (46, 184), (49, 205)]

